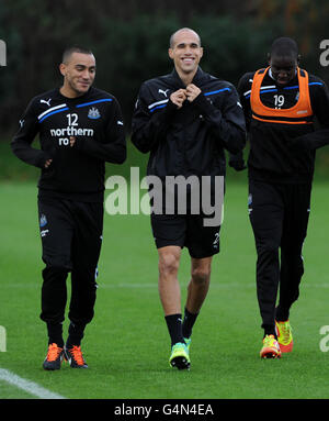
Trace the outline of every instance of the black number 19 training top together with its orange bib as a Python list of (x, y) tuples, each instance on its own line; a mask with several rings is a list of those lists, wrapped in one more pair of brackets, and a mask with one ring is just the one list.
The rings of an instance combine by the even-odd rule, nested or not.
[[(238, 92), (250, 140), (249, 178), (269, 182), (309, 182), (315, 148), (302, 147), (299, 136), (329, 128), (329, 96), (325, 82), (297, 68), (281, 87), (270, 68), (243, 75)], [(315, 132), (316, 133), (316, 132)]]

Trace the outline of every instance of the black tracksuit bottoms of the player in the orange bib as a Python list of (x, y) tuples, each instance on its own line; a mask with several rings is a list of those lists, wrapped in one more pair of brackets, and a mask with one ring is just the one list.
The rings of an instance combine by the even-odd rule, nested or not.
[(275, 319), (288, 319), (290, 309), (299, 296), (310, 191), (311, 182), (249, 180), (249, 218), (258, 255), (257, 297), (265, 334), (275, 332)]

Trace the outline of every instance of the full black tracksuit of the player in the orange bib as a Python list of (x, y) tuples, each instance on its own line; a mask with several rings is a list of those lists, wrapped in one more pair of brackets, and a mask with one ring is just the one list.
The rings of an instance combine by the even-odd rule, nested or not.
[[(306, 71), (299, 70), (303, 80)], [(329, 98), (325, 82), (308, 75), (308, 86), (305, 86), (305, 98), (309, 98), (308, 117), (303, 121), (307, 109), (300, 109), (294, 118), (290, 112), (281, 118), (277, 110), (293, 110), (298, 102), (298, 73), (286, 85), (280, 86), (272, 77), (271, 68), (259, 71), (263, 79), (256, 102), (257, 109), (265, 110), (265, 115), (258, 115), (252, 110), (256, 108), (251, 101), (254, 71), (242, 76), (238, 92), (250, 140), (248, 206), (258, 253), (258, 300), (265, 334), (275, 334), (274, 319), (288, 320), (291, 306), (299, 295), (315, 148), (322, 145), (314, 142), (310, 146), (311, 142), (308, 142), (307, 146), (299, 136), (307, 134), (306, 137), (313, 139), (316, 133), (314, 118), (320, 125), (329, 126)], [(280, 300), (275, 309), (279, 285)]]

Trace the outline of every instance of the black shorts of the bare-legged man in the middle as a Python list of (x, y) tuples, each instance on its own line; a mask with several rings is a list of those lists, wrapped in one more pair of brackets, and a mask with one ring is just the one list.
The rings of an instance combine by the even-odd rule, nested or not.
[(204, 214), (155, 214), (151, 228), (157, 248), (169, 245), (186, 247), (194, 258), (219, 253), (220, 225), (204, 226)]

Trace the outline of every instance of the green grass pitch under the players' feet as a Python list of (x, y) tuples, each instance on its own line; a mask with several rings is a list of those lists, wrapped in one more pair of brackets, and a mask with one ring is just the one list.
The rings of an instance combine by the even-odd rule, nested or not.
[[(109, 214), (95, 317), (82, 342), (90, 368), (75, 370), (64, 364), (58, 372), (43, 370), (47, 337), (38, 318), (43, 263), (36, 187), (2, 182), (0, 189), (0, 325), (7, 332), (0, 368), (71, 399), (329, 397), (329, 354), (319, 347), (320, 328), (329, 325), (328, 184), (317, 182), (313, 190), (305, 275), (291, 313), (294, 352), (280, 361), (261, 361), (247, 185), (228, 179), (222, 252), (214, 258), (209, 295), (193, 330), (190, 372), (168, 364), (170, 343), (158, 297), (149, 218)], [(184, 250), (179, 273), (183, 300), (189, 273)], [(65, 332), (67, 328), (66, 322)], [(0, 398), (29, 397), (0, 380)]]

